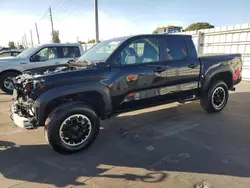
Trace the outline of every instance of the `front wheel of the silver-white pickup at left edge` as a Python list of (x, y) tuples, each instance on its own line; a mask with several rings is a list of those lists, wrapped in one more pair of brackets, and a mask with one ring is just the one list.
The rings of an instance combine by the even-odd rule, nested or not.
[(7, 94), (12, 94), (13, 93), (13, 86), (11, 88), (11, 78), (17, 77), (20, 73), (15, 72), (15, 71), (8, 71), (3, 73), (0, 76), (0, 88), (3, 92)]

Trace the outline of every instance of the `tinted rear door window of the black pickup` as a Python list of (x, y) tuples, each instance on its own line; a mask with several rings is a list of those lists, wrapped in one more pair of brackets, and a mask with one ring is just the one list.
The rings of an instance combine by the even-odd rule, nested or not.
[(184, 37), (168, 36), (165, 40), (167, 60), (181, 60), (188, 56), (188, 48)]

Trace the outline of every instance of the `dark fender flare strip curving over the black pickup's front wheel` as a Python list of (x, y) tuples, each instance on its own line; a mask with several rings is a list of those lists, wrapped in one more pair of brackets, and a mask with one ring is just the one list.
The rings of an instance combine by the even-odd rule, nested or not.
[(89, 91), (95, 91), (98, 92), (104, 101), (104, 113), (110, 114), (112, 112), (112, 101), (111, 101), (111, 95), (110, 90), (107, 86), (101, 84), (101, 83), (77, 83), (77, 84), (71, 84), (71, 85), (64, 85), (60, 87), (56, 87), (53, 89), (50, 89), (46, 91), (45, 93), (41, 94), (36, 100), (35, 100), (35, 108), (36, 108), (36, 115), (37, 115), (37, 122), (38, 125), (43, 125), (45, 121), (45, 110), (47, 105), (63, 96), (77, 94), (77, 93), (84, 93)]

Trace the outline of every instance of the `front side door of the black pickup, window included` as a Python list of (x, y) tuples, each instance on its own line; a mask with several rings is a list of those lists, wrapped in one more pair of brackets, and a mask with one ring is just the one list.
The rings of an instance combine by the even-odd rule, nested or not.
[(121, 49), (120, 66), (114, 68), (111, 95), (114, 108), (134, 101), (153, 99), (166, 85), (166, 65), (162, 61), (160, 38), (134, 38)]

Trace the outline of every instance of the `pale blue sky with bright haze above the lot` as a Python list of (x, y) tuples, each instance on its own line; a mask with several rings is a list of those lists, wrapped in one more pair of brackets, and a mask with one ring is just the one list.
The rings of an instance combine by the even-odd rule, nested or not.
[[(95, 38), (94, 0), (0, 0), (0, 46), (51, 41), (48, 8), (61, 42)], [(250, 0), (99, 0), (100, 39), (152, 33), (158, 26), (209, 22), (215, 26), (250, 23)]]

